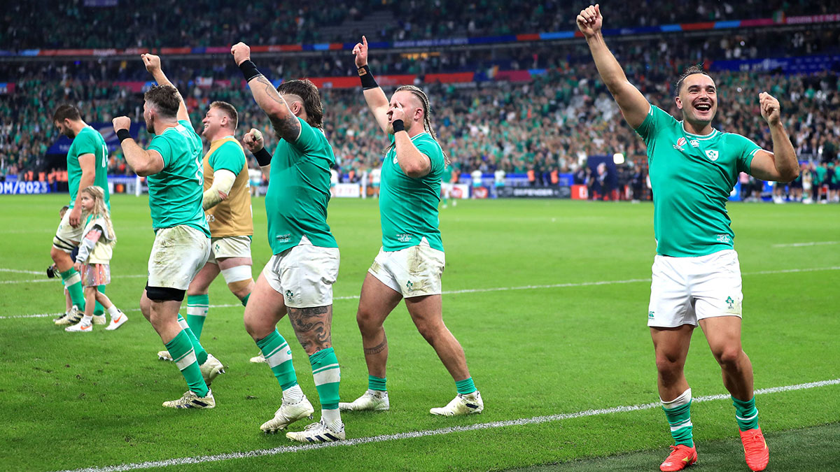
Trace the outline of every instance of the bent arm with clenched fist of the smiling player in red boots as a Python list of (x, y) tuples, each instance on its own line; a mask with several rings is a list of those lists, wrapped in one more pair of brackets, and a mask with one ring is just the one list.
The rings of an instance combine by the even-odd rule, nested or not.
[(770, 127), (773, 152), (759, 150), (753, 156), (749, 173), (763, 181), (790, 182), (799, 176), (799, 160), (781, 122), (779, 101), (767, 92), (759, 93), (761, 116)]

